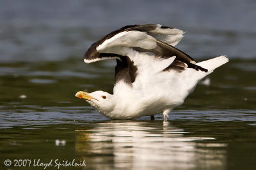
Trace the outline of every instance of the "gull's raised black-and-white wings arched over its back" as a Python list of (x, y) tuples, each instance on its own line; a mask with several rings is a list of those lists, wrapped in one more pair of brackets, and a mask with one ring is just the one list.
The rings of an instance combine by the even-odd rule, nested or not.
[[(136, 70), (138, 69), (136, 66), (138, 64), (141, 66), (141, 63), (134, 63), (140, 62), (135, 60), (141, 53), (147, 54), (142, 56), (148, 58), (145, 59), (147, 62), (142, 62), (142, 65), (148, 64), (148, 60), (153, 63), (152, 59), (149, 59), (150, 56), (156, 58), (153, 59), (155, 70), (157, 67), (163, 71), (173, 67), (179, 70), (191, 67), (206, 72), (207, 69), (196, 66), (194, 59), (174, 47), (182, 39), (183, 33), (179, 29), (159, 24), (127, 25), (93, 43), (84, 54), (84, 62), (117, 59), (116, 81), (126, 77), (125, 80), (130, 83), (135, 80)], [(175, 57), (173, 58), (173, 56)]]

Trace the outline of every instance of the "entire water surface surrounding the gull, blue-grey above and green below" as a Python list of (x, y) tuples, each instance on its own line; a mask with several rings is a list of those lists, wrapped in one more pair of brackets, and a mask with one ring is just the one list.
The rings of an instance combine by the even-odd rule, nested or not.
[[(2, 4), (1, 169), (44, 169), (36, 162), (51, 160), (45, 169), (58, 169), (55, 160), (86, 162), (60, 169), (255, 169), (254, 1)], [(198, 61), (230, 58), (168, 123), (162, 115), (110, 120), (74, 96), (79, 90), (112, 92), (115, 61), (84, 64), (83, 54), (104, 34), (134, 23), (184, 29), (177, 47)], [(32, 164), (15, 167), (15, 159)]]

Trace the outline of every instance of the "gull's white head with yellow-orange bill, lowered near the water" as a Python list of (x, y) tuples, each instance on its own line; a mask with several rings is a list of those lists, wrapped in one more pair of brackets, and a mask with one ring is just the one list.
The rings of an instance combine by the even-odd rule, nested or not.
[(79, 91), (76, 93), (76, 97), (85, 99), (91, 106), (105, 115), (110, 113), (113, 108), (115, 108), (116, 104), (115, 97), (103, 91), (95, 91), (92, 93)]

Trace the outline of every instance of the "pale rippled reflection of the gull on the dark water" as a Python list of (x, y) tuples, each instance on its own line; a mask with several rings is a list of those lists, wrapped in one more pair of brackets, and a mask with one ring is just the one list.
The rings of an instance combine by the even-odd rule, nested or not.
[[(90, 130), (77, 130), (77, 153), (95, 156), (88, 164), (106, 169), (106, 155), (112, 167), (131, 169), (168, 169), (225, 167), (225, 152), (218, 143), (196, 143), (214, 138), (185, 137), (183, 129), (172, 125), (148, 122), (102, 122)], [(105, 156), (100, 156), (105, 155)], [(96, 162), (93, 162), (96, 161)], [(106, 164), (104, 164), (104, 162)], [(108, 162), (109, 163), (109, 162)], [(100, 167), (99, 167), (100, 168)], [(108, 168), (107, 168), (108, 169)], [(109, 167), (111, 169), (111, 167)]]

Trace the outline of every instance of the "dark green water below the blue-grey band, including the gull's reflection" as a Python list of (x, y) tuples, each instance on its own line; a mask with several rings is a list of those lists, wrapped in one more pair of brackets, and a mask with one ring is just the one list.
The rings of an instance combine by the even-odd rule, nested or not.
[(214, 71), (210, 85), (198, 85), (168, 124), (162, 115), (109, 120), (74, 97), (78, 90), (111, 92), (111, 64), (1, 64), (1, 167), (5, 159), (76, 159), (86, 160), (84, 169), (253, 169), (254, 60), (231, 60)]

